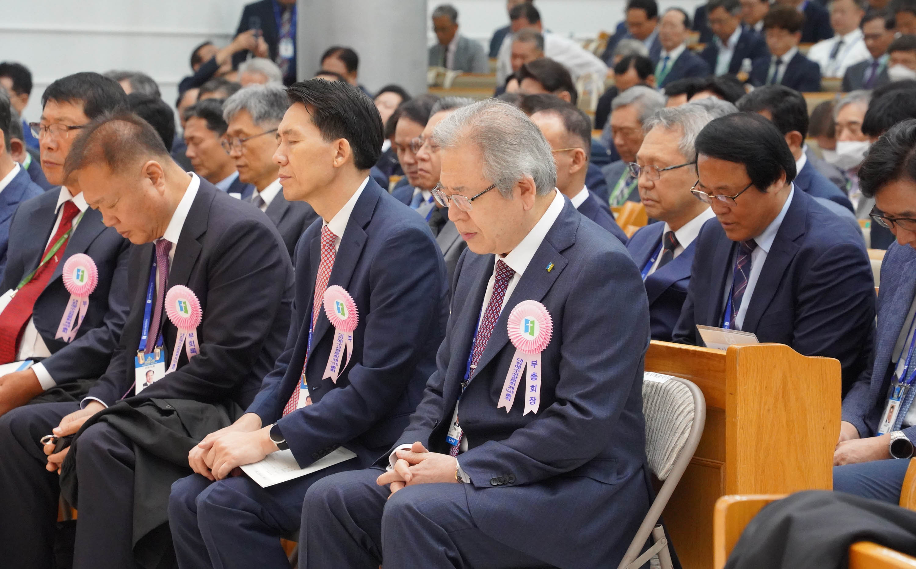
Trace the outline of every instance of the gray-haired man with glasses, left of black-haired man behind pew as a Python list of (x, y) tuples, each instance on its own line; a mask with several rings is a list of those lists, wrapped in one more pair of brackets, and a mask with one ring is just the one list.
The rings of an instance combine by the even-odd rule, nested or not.
[(662, 109), (649, 118), (639, 147), (639, 200), (660, 223), (639, 229), (627, 250), (642, 273), (649, 296), (652, 339), (671, 342), (681, 315), (696, 236), (715, 217), (708, 204), (689, 191), (696, 181), (693, 140), (713, 116), (699, 104)]

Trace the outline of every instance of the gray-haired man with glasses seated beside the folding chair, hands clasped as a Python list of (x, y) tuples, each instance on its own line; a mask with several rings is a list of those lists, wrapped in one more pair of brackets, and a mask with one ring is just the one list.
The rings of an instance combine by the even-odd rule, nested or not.
[(300, 563), (614, 567), (649, 509), (638, 270), (554, 189), (518, 108), (466, 106), (433, 136), (469, 249), (438, 369), (389, 455), (310, 488)]

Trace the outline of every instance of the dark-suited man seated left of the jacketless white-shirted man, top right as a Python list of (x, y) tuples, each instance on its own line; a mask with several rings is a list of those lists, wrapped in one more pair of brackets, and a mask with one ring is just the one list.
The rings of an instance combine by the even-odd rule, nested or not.
[(775, 5), (763, 18), (769, 58), (753, 63), (750, 80), (754, 85), (785, 85), (804, 93), (821, 90), (821, 67), (798, 49), (802, 38), (802, 13), (785, 5)]

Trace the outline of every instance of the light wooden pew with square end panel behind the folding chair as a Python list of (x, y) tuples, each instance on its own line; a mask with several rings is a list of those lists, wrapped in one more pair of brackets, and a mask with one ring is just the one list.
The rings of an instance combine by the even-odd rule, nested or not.
[(715, 500), (833, 486), (840, 429), (840, 363), (787, 345), (727, 352), (652, 341), (646, 371), (703, 389), (703, 439), (663, 519), (683, 567), (713, 564)]

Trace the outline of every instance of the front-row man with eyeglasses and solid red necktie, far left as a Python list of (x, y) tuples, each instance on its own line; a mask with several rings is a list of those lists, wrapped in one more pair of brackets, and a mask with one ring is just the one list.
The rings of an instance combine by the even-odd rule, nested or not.
[[(9, 225), (0, 281), (0, 364), (33, 365), (0, 376), (0, 415), (33, 398), (82, 399), (120, 341), (129, 308), (130, 244), (105, 226), (74, 181), (65, 180), (63, 165), (83, 126), (123, 104), (125, 93), (117, 82), (90, 72), (52, 82), (42, 94), (41, 120), (30, 127), (41, 148), (41, 169), (60, 187), (20, 203)], [(62, 272), (78, 253), (93, 259), (98, 284), (76, 337), (67, 342), (58, 333), (71, 299)]]

